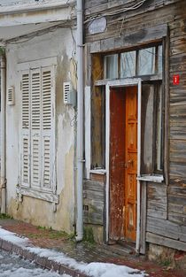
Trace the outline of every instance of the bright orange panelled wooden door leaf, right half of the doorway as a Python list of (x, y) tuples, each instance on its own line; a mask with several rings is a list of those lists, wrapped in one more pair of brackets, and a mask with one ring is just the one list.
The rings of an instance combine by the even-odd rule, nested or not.
[(137, 88), (126, 88), (125, 237), (136, 241)]

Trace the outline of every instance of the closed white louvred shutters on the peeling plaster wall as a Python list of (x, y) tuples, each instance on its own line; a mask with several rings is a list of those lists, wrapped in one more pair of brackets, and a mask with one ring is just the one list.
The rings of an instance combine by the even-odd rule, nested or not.
[(52, 68), (22, 74), (21, 186), (52, 191), (55, 96)]

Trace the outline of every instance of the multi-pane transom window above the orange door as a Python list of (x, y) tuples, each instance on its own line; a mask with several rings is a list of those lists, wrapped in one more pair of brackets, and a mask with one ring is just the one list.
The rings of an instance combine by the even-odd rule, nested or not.
[(162, 45), (109, 54), (104, 57), (104, 79), (162, 73)]

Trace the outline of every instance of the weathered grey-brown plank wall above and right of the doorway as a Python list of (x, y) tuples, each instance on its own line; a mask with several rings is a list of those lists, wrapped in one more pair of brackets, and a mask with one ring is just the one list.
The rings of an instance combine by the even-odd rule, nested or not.
[[(97, 50), (109, 49), (109, 39), (132, 38), (134, 47), (143, 44), (143, 30), (157, 30), (162, 24), (169, 29), (169, 103), (167, 148), (167, 184), (147, 183), (147, 235), (148, 242), (186, 250), (186, 2), (185, 0), (147, 0), (132, 12), (106, 16), (108, 12), (126, 8), (139, 1), (89, 1), (85, 0), (85, 42), (97, 42)], [(89, 19), (105, 14), (107, 27), (104, 33), (90, 35)], [(137, 32), (140, 37), (137, 38)], [(145, 34), (144, 34), (145, 36)], [(146, 36), (147, 37), (147, 36)], [(104, 45), (104, 46), (103, 46)], [(117, 46), (112, 45), (111, 50)], [(122, 45), (120, 45), (122, 47)], [(123, 40), (123, 49), (128, 42)], [(129, 46), (131, 47), (131, 45)], [(174, 74), (179, 74), (180, 84), (173, 85)], [(94, 140), (94, 138), (92, 138)], [(167, 240), (164, 238), (167, 237)], [(163, 242), (164, 240), (164, 242)], [(179, 242), (180, 241), (180, 242)]]

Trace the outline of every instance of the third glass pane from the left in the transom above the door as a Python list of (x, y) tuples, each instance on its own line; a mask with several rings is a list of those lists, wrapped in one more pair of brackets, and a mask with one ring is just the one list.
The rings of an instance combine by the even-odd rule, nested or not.
[(149, 75), (155, 73), (155, 47), (139, 50), (138, 75)]

